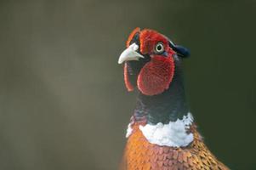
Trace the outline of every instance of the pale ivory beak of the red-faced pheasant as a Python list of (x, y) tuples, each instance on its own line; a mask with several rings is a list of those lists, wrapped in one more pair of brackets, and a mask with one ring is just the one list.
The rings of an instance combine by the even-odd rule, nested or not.
[(126, 48), (118, 59), (118, 64), (122, 64), (124, 61), (139, 60), (139, 58), (144, 58), (143, 55), (136, 52), (139, 46), (134, 42), (128, 48)]

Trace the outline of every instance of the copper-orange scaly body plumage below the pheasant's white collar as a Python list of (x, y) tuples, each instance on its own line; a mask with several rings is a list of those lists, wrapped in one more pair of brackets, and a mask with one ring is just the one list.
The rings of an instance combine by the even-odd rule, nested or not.
[(149, 143), (139, 125), (134, 122), (133, 133), (129, 136), (123, 156), (122, 170), (227, 170), (222, 162), (208, 150), (202, 137), (192, 124), (190, 131), (194, 140), (186, 147), (168, 147)]

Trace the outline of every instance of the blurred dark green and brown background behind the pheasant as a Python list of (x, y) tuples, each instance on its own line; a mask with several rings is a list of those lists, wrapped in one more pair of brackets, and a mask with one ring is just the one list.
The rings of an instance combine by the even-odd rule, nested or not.
[(117, 169), (136, 96), (117, 58), (137, 26), (191, 49), (199, 131), (232, 169), (256, 169), (255, 4), (1, 0), (0, 169)]

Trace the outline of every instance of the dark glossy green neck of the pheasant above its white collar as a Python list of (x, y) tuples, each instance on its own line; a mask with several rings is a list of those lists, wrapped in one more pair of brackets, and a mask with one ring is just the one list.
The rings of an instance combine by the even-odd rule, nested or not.
[(162, 94), (147, 96), (139, 92), (137, 105), (134, 111), (136, 120), (145, 119), (149, 124), (162, 122), (175, 122), (182, 119), (189, 112), (185, 101), (185, 89), (183, 86), (182, 72), (179, 63), (175, 64), (173, 81), (169, 88)]

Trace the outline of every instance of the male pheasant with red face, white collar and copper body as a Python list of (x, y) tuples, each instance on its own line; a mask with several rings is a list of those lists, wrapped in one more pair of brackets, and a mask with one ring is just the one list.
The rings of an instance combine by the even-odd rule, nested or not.
[(185, 99), (181, 60), (187, 48), (150, 29), (134, 29), (118, 59), (128, 91), (138, 89), (122, 170), (229, 169), (196, 130)]

